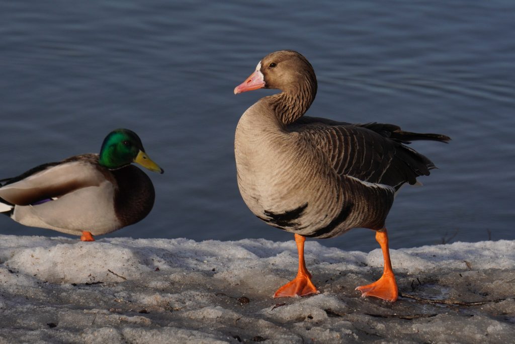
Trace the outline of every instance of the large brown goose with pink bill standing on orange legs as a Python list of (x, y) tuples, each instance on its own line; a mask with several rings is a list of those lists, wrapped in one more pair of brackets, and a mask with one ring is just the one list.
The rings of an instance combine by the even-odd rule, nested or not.
[(304, 262), (305, 237), (329, 238), (359, 227), (375, 231), (384, 272), (378, 281), (356, 289), (363, 297), (396, 301), (385, 219), (399, 188), (435, 168), (406, 144), (450, 138), (391, 124), (303, 116), (315, 99), (317, 80), (310, 62), (293, 50), (265, 56), (234, 93), (261, 88), (282, 92), (245, 111), (234, 151), (239, 191), (249, 209), (268, 225), (295, 233), (297, 277), (274, 297), (318, 293)]

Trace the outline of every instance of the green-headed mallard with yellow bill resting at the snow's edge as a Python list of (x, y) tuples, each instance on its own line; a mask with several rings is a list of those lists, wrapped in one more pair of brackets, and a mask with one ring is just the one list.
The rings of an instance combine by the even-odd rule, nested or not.
[(113, 232), (148, 215), (155, 191), (131, 163), (158, 173), (140, 137), (128, 129), (109, 133), (100, 154), (81, 154), (0, 181), (0, 212), (25, 226), (81, 235)]

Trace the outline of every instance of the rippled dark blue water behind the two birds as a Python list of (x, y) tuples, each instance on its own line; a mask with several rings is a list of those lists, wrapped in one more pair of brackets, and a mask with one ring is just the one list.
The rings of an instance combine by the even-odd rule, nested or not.
[[(279, 3), (0, 2), (0, 178), (126, 127), (165, 174), (150, 215), (109, 236), (290, 240), (236, 185), (234, 129), (271, 91), (232, 90), (295, 49), (317, 73), (310, 115), (453, 139), (412, 145), (439, 169), (397, 197), (391, 247), (515, 239), (515, 2)], [(7, 217), (0, 233), (62, 235)], [(322, 244), (377, 247), (364, 229)]]

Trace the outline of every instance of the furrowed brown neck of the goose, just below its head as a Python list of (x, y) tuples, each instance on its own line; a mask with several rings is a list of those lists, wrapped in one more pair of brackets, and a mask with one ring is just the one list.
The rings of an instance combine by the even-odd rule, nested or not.
[(288, 125), (297, 121), (310, 108), (316, 94), (316, 79), (313, 80), (306, 76), (304, 82), (267, 98), (269, 98), (277, 118), (284, 125)]

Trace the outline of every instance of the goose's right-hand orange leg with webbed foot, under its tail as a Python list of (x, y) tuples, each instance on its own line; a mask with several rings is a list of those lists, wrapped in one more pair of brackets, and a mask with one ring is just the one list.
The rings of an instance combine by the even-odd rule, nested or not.
[(390, 302), (395, 302), (399, 296), (397, 289), (397, 282), (393, 276), (393, 270), (390, 262), (390, 252), (388, 250), (388, 234), (386, 228), (383, 228), (375, 233), (375, 239), (381, 245), (384, 258), (383, 276), (374, 283), (362, 285), (356, 288), (361, 291), (362, 297), (374, 296)]

